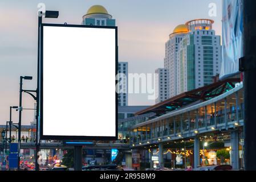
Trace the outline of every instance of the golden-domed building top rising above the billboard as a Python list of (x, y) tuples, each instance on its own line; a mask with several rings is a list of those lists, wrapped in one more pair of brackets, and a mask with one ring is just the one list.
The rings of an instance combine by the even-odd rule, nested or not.
[(116, 20), (112, 19), (104, 6), (94, 5), (83, 15), (83, 23), (92, 26), (116, 26)]

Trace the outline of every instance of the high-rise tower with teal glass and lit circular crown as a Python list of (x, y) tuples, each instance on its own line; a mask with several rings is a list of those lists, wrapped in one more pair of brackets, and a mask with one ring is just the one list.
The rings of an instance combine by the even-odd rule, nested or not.
[(210, 19), (186, 23), (189, 33), (178, 51), (178, 94), (212, 84), (220, 73), (221, 36), (215, 34), (213, 23)]

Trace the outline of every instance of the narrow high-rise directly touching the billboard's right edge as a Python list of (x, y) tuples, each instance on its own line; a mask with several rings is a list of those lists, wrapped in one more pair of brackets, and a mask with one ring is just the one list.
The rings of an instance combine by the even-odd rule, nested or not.
[(118, 73), (119, 76), (119, 94), (118, 94), (118, 105), (127, 106), (128, 105), (128, 63), (119, 62), (118, 63)]

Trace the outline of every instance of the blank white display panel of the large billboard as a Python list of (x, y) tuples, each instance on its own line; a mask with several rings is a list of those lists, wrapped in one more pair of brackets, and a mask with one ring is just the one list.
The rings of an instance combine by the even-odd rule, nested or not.
[(116, 27), (42, 30), (42, 139), (117, 137)]

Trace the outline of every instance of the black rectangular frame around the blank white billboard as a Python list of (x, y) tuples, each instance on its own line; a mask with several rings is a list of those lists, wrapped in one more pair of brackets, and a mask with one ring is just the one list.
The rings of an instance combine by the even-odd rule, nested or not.
[[(102, 137), (102, 136), (66, 136), (66, 135), (43, 135), (43, 27), (44, 26), (51, 26), (51, 27), (78, 27), (78, 28), (109, 28), (115, 29), (115, 44), (116, 44), (116, 53), (115, 53), (115, 76), (118, 74), (118, 36), (117, 36), (117, 27), (116, 26), (87, 26), (87, 25), (79, 25), (79, 24), (53, 24), (53, 23), (42, 23), (40, 26), (40, 83), (39, 83), (39, 93), (40, 93), (40, 101), (39, 101), (39, 130), (40, 130), (40, 140), (117, 140), (118, 139), (118, 94), (117, 92), (115, 97), (115, 104), (116, 104), (116, 121), (115, 121), (115, 137)], [(115, 86), (117, 85), (118, 81), (115, 79)]]

